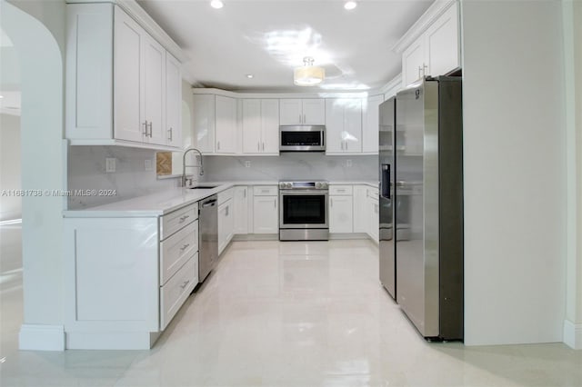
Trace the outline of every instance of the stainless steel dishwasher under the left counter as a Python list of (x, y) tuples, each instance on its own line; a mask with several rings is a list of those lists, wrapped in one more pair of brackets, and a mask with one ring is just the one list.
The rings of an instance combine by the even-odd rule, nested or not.
[(198, 283), (202, 283), (218, 260), (218, 196), (200, 202), (198, 216)]

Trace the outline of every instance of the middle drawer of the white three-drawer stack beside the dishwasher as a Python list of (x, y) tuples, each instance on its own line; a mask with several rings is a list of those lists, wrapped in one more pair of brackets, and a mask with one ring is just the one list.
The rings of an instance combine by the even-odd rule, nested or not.
[(198, 251), (198, 221), (160, 243), (160, 284), (166, 283)]

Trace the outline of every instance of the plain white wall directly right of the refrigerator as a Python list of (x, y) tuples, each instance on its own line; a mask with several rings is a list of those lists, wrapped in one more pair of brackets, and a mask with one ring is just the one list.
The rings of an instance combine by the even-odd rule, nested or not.
[(465, 342), (561, 342), (561, 5), (465, 0), (462, 7)]

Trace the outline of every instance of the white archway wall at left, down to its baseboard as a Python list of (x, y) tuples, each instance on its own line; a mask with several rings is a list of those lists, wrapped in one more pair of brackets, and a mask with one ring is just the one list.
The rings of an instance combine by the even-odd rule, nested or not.
[[(22, 86), (22, 188), (65, 187), (63, 149), (63, 54), (65, 3), (0, 2), (2, 28), (20, 58)], [(49, 26), (50, 30), (46, 26)], [(55, 196), (23, 199), (24, 320), (22, 349), (64, 349), (63, 201)]]

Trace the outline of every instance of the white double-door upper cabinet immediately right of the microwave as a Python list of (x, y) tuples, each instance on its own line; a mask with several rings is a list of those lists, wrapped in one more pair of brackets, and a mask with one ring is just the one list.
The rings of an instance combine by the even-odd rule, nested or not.
[(326, 154), (362, 153), (362, 100), (326, 99)]

